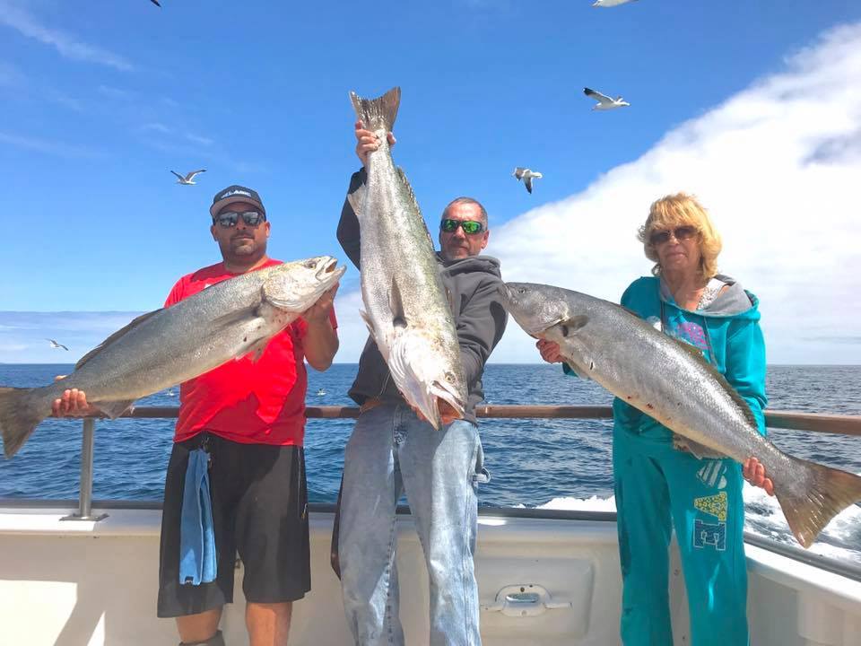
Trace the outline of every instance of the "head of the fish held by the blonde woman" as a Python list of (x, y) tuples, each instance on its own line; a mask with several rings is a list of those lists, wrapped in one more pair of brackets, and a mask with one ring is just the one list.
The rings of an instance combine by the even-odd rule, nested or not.
[(502, 307), (523, 327), (526, 334), (544, 337), (550, 328), (583, 317), (577, 292), (537, 283), (500, 284)]

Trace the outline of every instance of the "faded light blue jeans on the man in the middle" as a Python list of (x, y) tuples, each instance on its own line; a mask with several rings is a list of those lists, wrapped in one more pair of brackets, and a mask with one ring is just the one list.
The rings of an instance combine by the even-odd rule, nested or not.
[(481, 644), (473, 554), (477, 483), (486, 482), (474, 423), (435, 431), (405, 405), (362, 413), (344, 457), (338, 558), (357, 644), (403, 644), (397, 616), (396, 505), (403, 491), (431, 583), (431, 646)]

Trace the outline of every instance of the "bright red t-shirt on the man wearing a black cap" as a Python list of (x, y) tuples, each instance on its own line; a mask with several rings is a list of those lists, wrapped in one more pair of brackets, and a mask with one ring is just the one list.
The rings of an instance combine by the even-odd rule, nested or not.
[[(280, 260), (270, 259), (258, 268), (280, 264)], [(219, 263), (183, 276), (164, 306), (234, 275)], [(337, 327), (335, 310), (330, 320)], [(308, 323), (301, 317), (295, 319), (273, 336), (257, 362), (251, 361), (253, 354), (249, 353), (183, 382), (173, 441), (187, 440), (205, 430), (244, 444), (302, 446), (308, 388), (302, 339), (307, 331)]]

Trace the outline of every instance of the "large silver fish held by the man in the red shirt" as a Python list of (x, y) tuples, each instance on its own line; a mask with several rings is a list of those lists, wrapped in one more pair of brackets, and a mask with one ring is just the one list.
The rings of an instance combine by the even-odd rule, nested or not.
[(238, 275), (170, 308), (143, 314), (83, 356), (65, 379), (41, 388), (0, 388), (0, 432), (11, 458), (66, 388), (116, 417), (135, 399), (261, 354), (344, 274), (335, 258), (297, 260)]

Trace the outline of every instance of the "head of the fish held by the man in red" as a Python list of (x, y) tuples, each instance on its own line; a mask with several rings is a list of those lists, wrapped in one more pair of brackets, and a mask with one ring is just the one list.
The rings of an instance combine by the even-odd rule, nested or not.
[(318, 256), (273, 266), (263, 288), (265, 300), (279, 310), (308, 310), (344, 275), (346, 267), (337, 265), (331, 256)]

